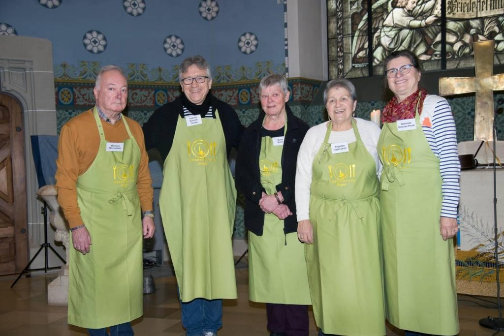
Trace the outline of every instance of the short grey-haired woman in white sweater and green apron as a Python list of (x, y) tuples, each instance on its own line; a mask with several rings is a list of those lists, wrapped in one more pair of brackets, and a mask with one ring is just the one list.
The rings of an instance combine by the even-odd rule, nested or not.
[(330, 120), (306, 133), (295, 184), (313, 313), (320, 334), (384, 335), (380, 128), (353, 117), (357, 101), (348, 80), (330, 81), (324, 103)]

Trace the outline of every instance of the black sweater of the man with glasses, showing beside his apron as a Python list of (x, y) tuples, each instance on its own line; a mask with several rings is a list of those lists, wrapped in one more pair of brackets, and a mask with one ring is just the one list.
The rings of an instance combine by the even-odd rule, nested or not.
[[(219, 113), (224, 138), (226, 139), (227, 156), (229, 157), (231, 148), (238, 147), (244, 127), (231, 106), (214, 96), (211, 97), (211, 104), (213, 110), (217, 110)], [(182, 118), (184, 117), (181, 97), (156, 109), (142, 127), (146, 150), (157, 148), (163, 162), (166, 160), (173, 144), (179, 115)]]

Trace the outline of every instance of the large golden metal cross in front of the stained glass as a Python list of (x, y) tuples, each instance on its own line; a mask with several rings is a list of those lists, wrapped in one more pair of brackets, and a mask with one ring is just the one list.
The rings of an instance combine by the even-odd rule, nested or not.
[(474, 42), (476, 77), (439, 79), (442, 96), (476, 92), (474, 140), (492, 141), (493, 91), (504, 90), (504, 74), (493, 74), (493, 40)]

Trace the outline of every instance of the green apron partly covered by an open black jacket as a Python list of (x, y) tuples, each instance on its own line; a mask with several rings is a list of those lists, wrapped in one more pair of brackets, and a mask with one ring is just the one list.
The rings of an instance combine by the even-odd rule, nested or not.
[[(269, 195), (282, 181), (282, 151), (283, 146), (273, 146), (273, 138), (262, 138), (259, 170), (261, 184)], [(283, 220), (265, 214), (263, 235), (248, 232), (248, 298), (254, 302), (309, 305), (303, 245), (297, 232), (285, 235), (283, 229)]]

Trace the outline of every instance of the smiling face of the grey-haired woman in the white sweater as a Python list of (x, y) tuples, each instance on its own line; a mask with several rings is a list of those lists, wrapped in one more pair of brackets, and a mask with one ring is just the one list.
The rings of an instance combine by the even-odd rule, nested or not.
[(327, 113), (331, 119), (333, 130), (349, 129), (352, 127), (352, 114), (357, 106), (357, 101), (352, 99), (352, 95), (347, 89), (334, 87), (327, 93)]

